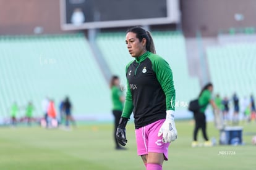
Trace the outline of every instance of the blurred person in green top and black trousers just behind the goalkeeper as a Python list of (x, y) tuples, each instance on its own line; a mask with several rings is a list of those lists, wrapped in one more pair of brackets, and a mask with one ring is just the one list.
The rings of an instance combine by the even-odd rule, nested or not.
[(111, 99), (113, 103), (112, 112), (114, 115), (114, 141), (115, 141), (116, 149), (122, 150), (124, 149), (124, 147), (121, 147), (121, 145), (117, 142), (117, 139), (116, 139), (116, 130), (122, 115), (122, 109), (123, 109), (123, 103), (124, 103), (124, 95), (122, 94), (122, 91), (119, 85), (120, 85), (120, 81), (118, 76), (112, 76), (110, 81), (110, 88), (111, 88)]

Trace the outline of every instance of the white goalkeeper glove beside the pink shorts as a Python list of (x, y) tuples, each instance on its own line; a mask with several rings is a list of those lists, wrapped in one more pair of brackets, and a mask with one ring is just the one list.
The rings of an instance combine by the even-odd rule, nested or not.
[(158, 137), (163, 134), (163, 142), (169, 143), (177, 139), (177, 130), (174, 123), (174, 111), (166, 111), (166, 119), (158, 132)]

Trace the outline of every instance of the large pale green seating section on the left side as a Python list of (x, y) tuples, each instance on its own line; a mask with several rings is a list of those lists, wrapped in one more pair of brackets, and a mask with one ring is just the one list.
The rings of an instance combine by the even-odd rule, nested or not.
[(83, 34), (0, 37), (0, 115), (7, 118), (14, 101), (35, 105), (42, 116), (41, 100), (54, 99), (58, 110), (69, 95), (75, 115), (111, 110), (109, 88)]

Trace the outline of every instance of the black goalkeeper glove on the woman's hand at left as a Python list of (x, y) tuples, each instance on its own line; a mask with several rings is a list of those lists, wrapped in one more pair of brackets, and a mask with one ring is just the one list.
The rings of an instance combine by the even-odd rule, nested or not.
[(119, 144), (125, 146), (127, 144), (126, 139), (126, 124), (129, 121), (128, 118), (121, 117), (119, 121), (119, 125), (117, 126), (116, 130), (116, 139)]

